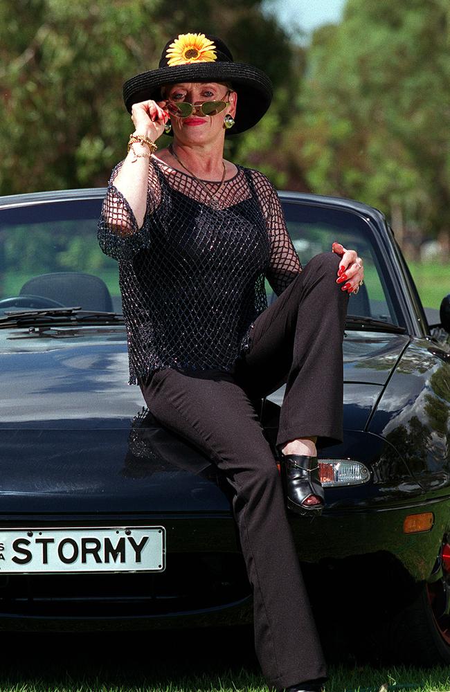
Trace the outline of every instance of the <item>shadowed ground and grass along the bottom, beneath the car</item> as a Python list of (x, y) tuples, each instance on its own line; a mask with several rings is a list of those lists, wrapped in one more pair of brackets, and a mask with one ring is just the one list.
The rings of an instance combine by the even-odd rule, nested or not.
[[(8, 634), (0, 692), (267, 692), (251, 628), (242, 632)], [(386, 683), (388, 692), (450, 690), (450, 666), (421, 670), (351, 660), (330, 664), (328, 675), (325, 692), (378, 692)]]

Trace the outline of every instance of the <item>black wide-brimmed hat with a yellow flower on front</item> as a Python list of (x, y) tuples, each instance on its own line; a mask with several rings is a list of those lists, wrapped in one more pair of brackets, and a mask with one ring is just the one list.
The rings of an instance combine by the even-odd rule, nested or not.
[(163, 100), (161, 86), (179, 82), (232, 84), (237, 92), (237, 109), (235, 125), (226, 134), (253, 127), (272, 100), (272, 84), (267, 74), (252, 65), (234, 62), (221, 39), (208, 34), (181, 34), (165, 44), (159, 69), (143, 72), (125, 82), (123, 100), (127, 111), (132, 112), (134, 103)]

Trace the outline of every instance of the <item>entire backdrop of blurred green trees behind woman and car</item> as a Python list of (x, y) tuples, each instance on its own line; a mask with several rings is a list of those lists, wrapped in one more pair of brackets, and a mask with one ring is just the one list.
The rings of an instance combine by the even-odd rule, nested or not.
[(219, 34), (273, 80), (269, 113), (227, 140), (229, 158), (371, 203), (401, 243), (450, 247), (448, 0), (348, 0), (308, 48), (262, 0), (0, 0), (0, 192), (104, 185), (132, 128), (123, 82), (186, 31)]

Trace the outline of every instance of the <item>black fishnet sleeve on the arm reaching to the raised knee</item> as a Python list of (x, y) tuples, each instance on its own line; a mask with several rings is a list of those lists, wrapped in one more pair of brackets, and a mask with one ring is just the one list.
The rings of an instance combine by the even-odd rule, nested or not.
[(267, 280), (276, 295), (280, 295), (302, 271), (302, 265), (286, 228), (285, 214), (275, 188), (266, 176), (257, 171), (253, 171), (253, 181), (271, 241)]

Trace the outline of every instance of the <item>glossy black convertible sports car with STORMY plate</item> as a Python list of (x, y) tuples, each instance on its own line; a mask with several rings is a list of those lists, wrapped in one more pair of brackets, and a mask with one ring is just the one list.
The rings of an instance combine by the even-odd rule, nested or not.
[[(127, 385), (117, 265), (96, 238), (104, 194), (0, 200), (0, 628), (248, 623), (224, 477)], [(280, 197), (304, 264), (338, 240), (366, 267), (344, 338), (345, 441), (320, 460), (326, 507), (291, 516), (318, 626), (325, 643), (449, 663), (450, 295), (430, 327), (380, 212)], [(261, 401), (270, 441), (282, 393)]]

